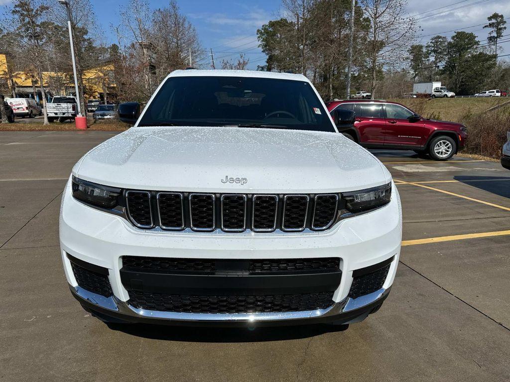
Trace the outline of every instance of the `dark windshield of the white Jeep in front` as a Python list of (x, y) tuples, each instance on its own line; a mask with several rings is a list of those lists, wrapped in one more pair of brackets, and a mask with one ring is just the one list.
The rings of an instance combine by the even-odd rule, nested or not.
[(239, 125), (335, 132), (309, 83), (223, 76), (168, 78), (138, 126)]

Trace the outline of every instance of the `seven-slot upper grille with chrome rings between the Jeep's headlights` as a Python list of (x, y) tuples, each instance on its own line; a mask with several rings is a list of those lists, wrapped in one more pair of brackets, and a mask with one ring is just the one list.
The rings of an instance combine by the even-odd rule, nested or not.
[(287, 195), (124, 190), (120, 210), (112, 210), (112, 213), (120, 213), (140, 230), (153, 232), (291, 235), (324, 232), (345, 219), (344, 209), (345, 201), (340, 193)]

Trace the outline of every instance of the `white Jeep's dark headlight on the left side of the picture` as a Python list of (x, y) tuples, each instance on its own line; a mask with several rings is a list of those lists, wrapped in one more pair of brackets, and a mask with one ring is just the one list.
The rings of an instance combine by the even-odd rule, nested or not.
[(97, 207), (113, 208), (118, 204), (120, 188), (103, 186), (72, 177), (72, 196)]

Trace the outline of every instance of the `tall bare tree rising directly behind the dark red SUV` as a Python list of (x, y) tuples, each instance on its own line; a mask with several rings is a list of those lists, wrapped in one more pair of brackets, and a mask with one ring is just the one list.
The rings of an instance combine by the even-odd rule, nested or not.
[(366, 49), (374, 97), (377, 72), (400, 59), (414, 37), (415, 20), (407, 14), (407, 0), (360, 0), (360, 5), (370, 20)]

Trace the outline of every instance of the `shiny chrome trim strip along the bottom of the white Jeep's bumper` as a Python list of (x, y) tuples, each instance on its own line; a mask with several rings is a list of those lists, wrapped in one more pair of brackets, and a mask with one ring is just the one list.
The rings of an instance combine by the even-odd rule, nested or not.
[(355, 309), (362, 308), (366, 305), (376, 302), (381, 297), (389, 293), (389, 289), (381, 288), (373, 293), (360, 296), (358, 298), (346, 297), (342, 301), (334, 305), (317, 310), (308, 310), (300, 312), (277, 312), (277, 313), (178, 313), (178, 312), (161, 312), (155, 310), (145, 310), (135, 308), (125, 301), (120, 301), (117, 297), (105, 297), (100, 294), (92, 293), (79, 286), (73, 287), (69, 285), (71, 292), (100, 308), (110, 310), (122, 315), (131, 317), (143, 317), (154, 319), (167, 319), (175, 321), (203, 321), (203, 322), (257, 322), (257, 321), (282, 321), (297, 320), (307, 318), (318, 318), (340, 315)]

